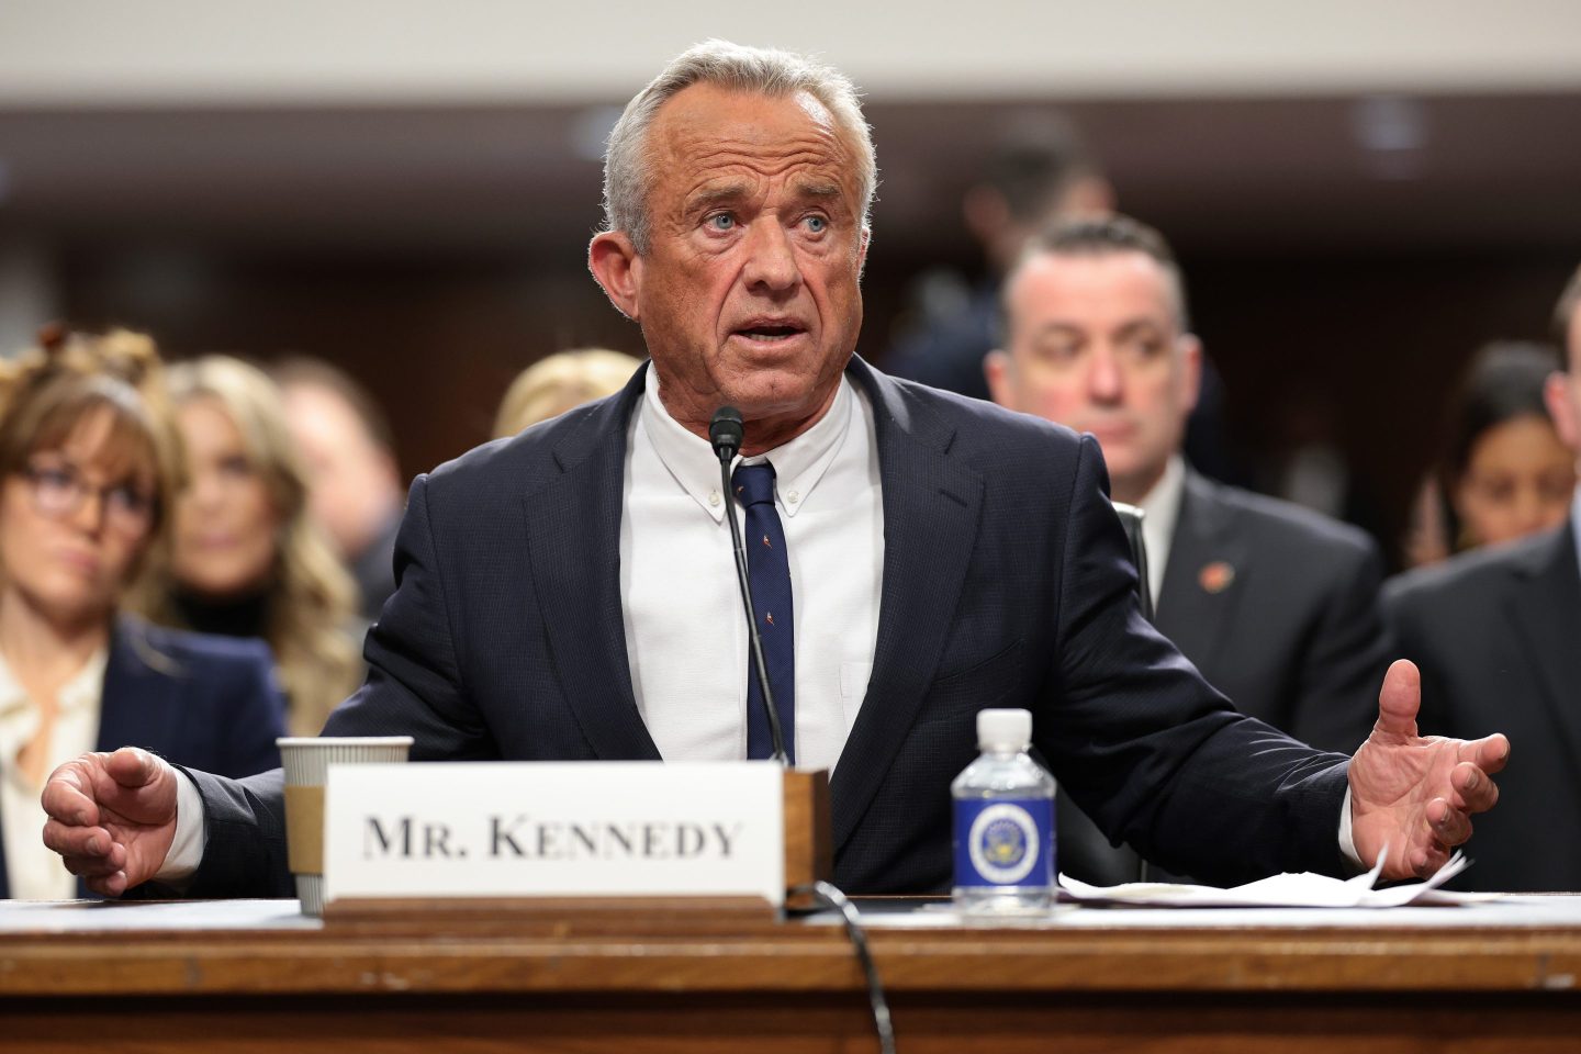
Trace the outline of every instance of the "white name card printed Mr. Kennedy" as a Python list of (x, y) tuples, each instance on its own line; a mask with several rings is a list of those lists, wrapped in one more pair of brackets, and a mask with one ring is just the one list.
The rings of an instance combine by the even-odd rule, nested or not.
[(772, 762), (330, 765), (324, 901), (760, 896), (784, 902)]

